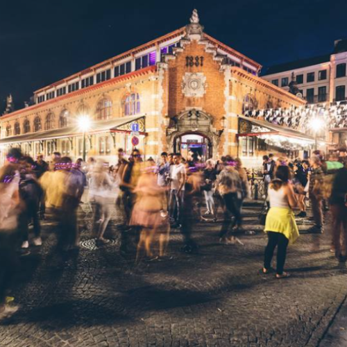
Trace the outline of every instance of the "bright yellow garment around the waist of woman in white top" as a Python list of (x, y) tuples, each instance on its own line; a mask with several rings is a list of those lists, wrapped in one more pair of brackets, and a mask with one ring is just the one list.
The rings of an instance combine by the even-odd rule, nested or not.
[(270, 208), (266, 216), (264, 232), (280, 232), (289, 239), (289, 244), (294, 244), (299, 237), (298, 226), (291, 208)]

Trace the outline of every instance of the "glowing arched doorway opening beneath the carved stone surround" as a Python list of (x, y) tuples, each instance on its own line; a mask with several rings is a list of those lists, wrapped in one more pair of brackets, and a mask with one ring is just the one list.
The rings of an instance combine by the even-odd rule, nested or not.
[(174, 138), (174, 151), (181, 153), (183, 158), (196, 155), (205, 161), (212, 158), (212, 141), (198, 132), (183, 133)]

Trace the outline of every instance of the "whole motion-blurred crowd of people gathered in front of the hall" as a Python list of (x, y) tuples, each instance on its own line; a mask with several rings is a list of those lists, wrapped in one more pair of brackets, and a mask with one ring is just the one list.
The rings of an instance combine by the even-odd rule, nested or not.
[[(242, 245), (237, 235), (249, 232), (242, 228), (242, 205), (251, 198), (251, 187), (239, 158), (226, 155), (203, 162), (197, 153), (182, 158), (180, 153), (163, 152), (155, 162), (152, 158), (144, 161), (137, 149), (129, 158), (119, 149), (117, 157), (117, 164), (109, 167), (94, 158), (72, 162), (56, 152), (47, 163), (42, 155), (34, 161), (19, 149), (10, 149), (0, 169), (0, 264), (6, 264), (0, 266), (0, 318), (17, 310), (7, 305), (6, 290), (19, 257), (30, 254), (31, 247), (42, 246), (40, 223), (47, 215), (56, 223), (58, 257), (78, 253), (78, 209), (82, 203), (93, 214), (97, 246), (110, 242), (106, 230), (117, 211), (121, 216), (120, 252), (134, 251), (136, 262), (165, 257), (172, 228), (182, 235), (182, 251), (198, 251), (194, 230), (197, 223), (205, 221), (221, 219), (221, 244)], [(331, 251), (339, 261), (347, 260), (344, 158), (332, 153), (325, 160), (319, 151), (310, 160), (275, 160), (272, 154), (264, 155), (262, 180), (267, 205), (264, 231), (268, 235), (262, 273), (272, 272), (277, 246), (276, 278), (289, 276), (284, 271), (287, 246), (299, 235), (296, 218), (307, 217), (308, 201), (314, 220), (310, 232), (323, 232), (324, 211), (330, 209)], [(299, 211), (296, 216), (294, 208)]]

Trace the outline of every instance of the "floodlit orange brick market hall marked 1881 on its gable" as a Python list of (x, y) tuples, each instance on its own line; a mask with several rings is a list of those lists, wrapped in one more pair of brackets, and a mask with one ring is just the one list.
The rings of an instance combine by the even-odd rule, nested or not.
[(259, 162), (264, 142), (239, 137), (239, 116), (305, 101), (264, 81), (261, 65), (203, 29), (194, 10), (184, 28), (37, 90), (34, 105), (0, 118), (1, 160), (11, 146), (47, 160), (53, 151), (82, 157), (78, 119), (88, 117), (87, 157), (110, 164), (137, 142), (144, 158), (195, 151)]

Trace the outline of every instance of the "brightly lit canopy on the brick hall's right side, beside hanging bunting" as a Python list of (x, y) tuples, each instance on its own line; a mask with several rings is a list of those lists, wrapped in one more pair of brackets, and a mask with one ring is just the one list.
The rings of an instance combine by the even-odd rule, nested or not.
[(239, 116), (239, 133), (237, 137), (256, 136), (264, 139), (266, 144), (277, 146), (287, 151), (310, 150), (314, 147), (315, 138), (298, 130), (271, 124), (269, 121)]

